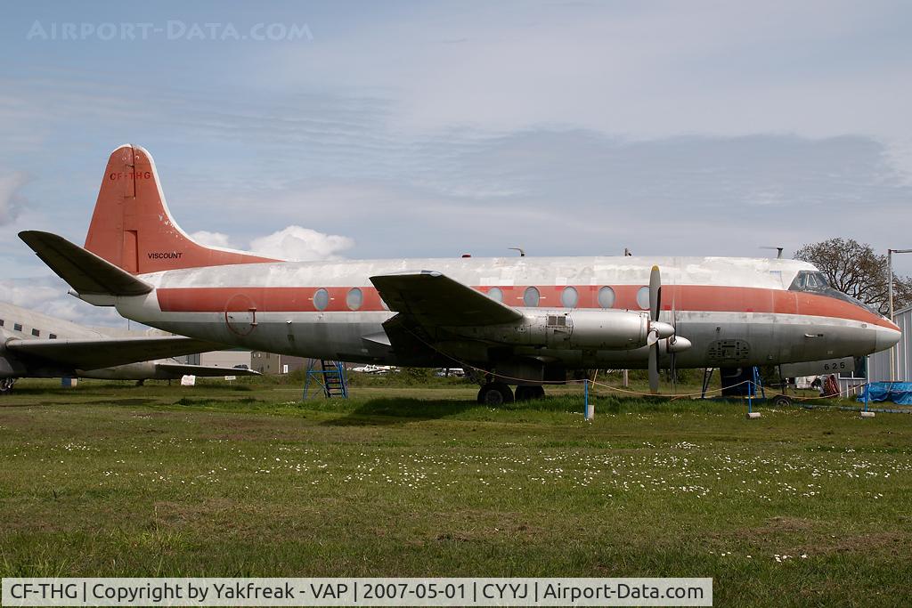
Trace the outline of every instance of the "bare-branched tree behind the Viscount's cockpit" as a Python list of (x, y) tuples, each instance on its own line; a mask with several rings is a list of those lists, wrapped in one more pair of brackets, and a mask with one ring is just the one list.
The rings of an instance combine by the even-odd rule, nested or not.
[[(878, 255), (871, 245), (855, 239), (829, 239), (803, 245), (795, 252), (795, 259), (813, 263), (826, 274), (834, 289), (880, 314), (889, 314), (886, 255)], [(912, 304), (912, 277), (894, 273), (893, 281), (894, 309)]]

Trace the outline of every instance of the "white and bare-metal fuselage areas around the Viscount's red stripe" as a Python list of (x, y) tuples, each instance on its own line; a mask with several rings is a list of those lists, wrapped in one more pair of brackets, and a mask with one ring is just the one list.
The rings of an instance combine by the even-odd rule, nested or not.
[[(156, 290), (219, 288), (238, 294), (249, 288), (351, 288), (369, 289), (369, 277), (379, 274), (431, 270), (473, 287), (534, 285), (543, 288), (574, 285), (642, 286), (657, 264), (663, 285), (752, 288), (785, 291), (802, 270), (815, 270), (793, 260), (752, 258), (467, 258), (344, 261), (320, 263), (255, 263), (191, 268), (140, 275)], [(504, 300), (523, 314), (565, 312), (558, 298), (543, 299), (537, 307), (523, 307), (522, 294)], [(339, 303), (334, 306), (338, 308)], [(668, 303), (665, 303), (668, 304)], [(673, 304), (673, 303), (671, 303)], [(366, 363), (400, 363), (395, 355), (378, 354), (365, 337), (378, 335), (393, 314), (384, 310), (316, 311), (313, 306), (297, 310), (270, 311), (260, 306), (255, 325), (245, 313), (185, 307), (162, 310), (156, 291), (116, 299), (120, 314), (181, 335), (212, 340), (268, 352)], [(631, 306), (637, 311), (642, 308)], [(307, 309), (309, 308), (309, 310)], [(304, 310), (302, 310), (304, 309)], [(253, 315), (250, 315), (251, 317)], [(692, 343), (679, 353), (677, 365), (742, 366), (819, 360), (829, 357), (863, 356), (895, 343), (895, 331), (872, 325), (869, 320), (817, 314), (781, 314), (774, 311), (663, 310), (660, 320), (677, 326), (678, 335)], [(737, 341), (737, 342), (736, 342)], [(720, 358), (720, 345), (736, 353)], [(483, 364), (476, 345), (448, 352), (457, 360)], [(722, 349), (724, 350), (724, 349)], [(730, 349), (731, 350), (731, 349)], [(517, 356), (559, 360), (568, 367), (642, 367), (648, 348), (634, 350), (549, 350), (516, 347)], [(733, 358), (732, 358), (733, 357)]]

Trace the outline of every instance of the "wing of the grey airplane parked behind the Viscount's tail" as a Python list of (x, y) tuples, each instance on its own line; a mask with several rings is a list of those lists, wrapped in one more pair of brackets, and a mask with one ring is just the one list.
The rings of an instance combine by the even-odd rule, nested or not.
[(71, 366), (74, 369), (98, 369), (169, 356), (219, 350), (223, 348), (223, 345), (193, 340), (180, 335), (163, 335), (75, 340), (14, 339), (6, 343), (6, 348), (19, 355), (39, 357), (58, 365)]

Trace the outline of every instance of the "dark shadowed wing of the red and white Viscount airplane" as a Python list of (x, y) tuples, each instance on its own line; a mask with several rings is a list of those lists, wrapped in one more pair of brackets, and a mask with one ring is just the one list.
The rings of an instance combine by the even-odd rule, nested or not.
[(523, 318), (515, 308), (441, 273), (381, 274), (370, 282), (389, 310), (426, 327), (500, 325)]

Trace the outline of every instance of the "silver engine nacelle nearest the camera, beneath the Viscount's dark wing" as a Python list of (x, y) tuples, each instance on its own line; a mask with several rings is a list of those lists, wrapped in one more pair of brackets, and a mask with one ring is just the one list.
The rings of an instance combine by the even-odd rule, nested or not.
[(523, 309), (523, 321), (454, 328), (459, 335), (504, 345), (582, 350), (625, 350), (646, 345), (650, 327), (667, 337), (670, 325), (650, 324), (648, 313), (624, 310)]

